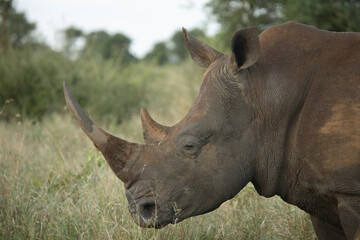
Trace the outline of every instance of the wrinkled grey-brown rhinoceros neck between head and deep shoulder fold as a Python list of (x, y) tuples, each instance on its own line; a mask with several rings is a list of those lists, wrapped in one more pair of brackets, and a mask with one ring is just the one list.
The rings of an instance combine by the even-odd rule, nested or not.
[[(316, 65), (307, 63), (312, 62), (312, 58), (312, 54), (293, 59), (265, 57), (254, 66), (253, 72), (257, 74), (252, 77), (250, 95), (257, 115), (253, 126), (257, 157), (252, 182), (258, 193), (265, 197), (279, 194), (283, 166), (287, 161), (289, 129), (316, 72)], [(307, 68), (306, 72), (301, 73), (300, 67)]]

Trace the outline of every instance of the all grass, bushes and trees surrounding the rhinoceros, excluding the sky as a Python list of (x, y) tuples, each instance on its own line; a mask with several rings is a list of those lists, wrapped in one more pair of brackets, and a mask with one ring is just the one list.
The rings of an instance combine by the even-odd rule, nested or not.
[[(228, 51), (233, 32), (297, 20), (359, 31), (360, 1), (210, 0), (216, 36), (190, 33)], [(64, 108), (66, 81), (93, 118), (115, 135), (142, 141), (138, 111), (179, 121), (203, 70), (189, 60), (181, 32), (143, 58), (122, 33), (63, 29), (63, 49), (33, 36), (36, 25), (0, 0), (0, 239), (314, 239), (308, 215), (248, 185), (218, 210), (162, 230), (141, 229), (122, 184)], [(79, 42), (83, 42), (79, 47)]]

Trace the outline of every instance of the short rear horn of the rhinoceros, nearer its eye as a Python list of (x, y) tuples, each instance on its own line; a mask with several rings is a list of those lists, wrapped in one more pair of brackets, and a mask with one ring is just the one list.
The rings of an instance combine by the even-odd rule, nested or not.
[(141, 108), (140, 116), (146, 144), (159, 144), (159, 142), (167, 137), (169, 127), (155, 122), (145, 108)]

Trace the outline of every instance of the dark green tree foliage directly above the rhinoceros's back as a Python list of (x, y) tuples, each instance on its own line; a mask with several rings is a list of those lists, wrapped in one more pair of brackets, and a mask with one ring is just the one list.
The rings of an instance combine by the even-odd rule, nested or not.
[(360, 31), (359, 0), (210, 0), (207, 8), (221, 25), (220, 44), (228, 44), (240, 28), (257, 26), (263, 31), (286, 21), (331, 31)]

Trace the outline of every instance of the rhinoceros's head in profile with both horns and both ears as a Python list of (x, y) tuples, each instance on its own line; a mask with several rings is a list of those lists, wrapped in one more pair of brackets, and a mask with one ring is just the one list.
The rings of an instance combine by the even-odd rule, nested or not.
[(247, 99), (251, 66), (260, 55), (256, 28), (236, 32), (230, 55), (187, 34), (193, 60), (207, 68), (188, 114), (172, 127), (145, 109), (145, 145), (117, 138), (97, 126), (64, 83), (68, 108), (124, 182), (129, 210), (142, 227), (163, 227), (219, 207), (254, 172), (254, 112)]

